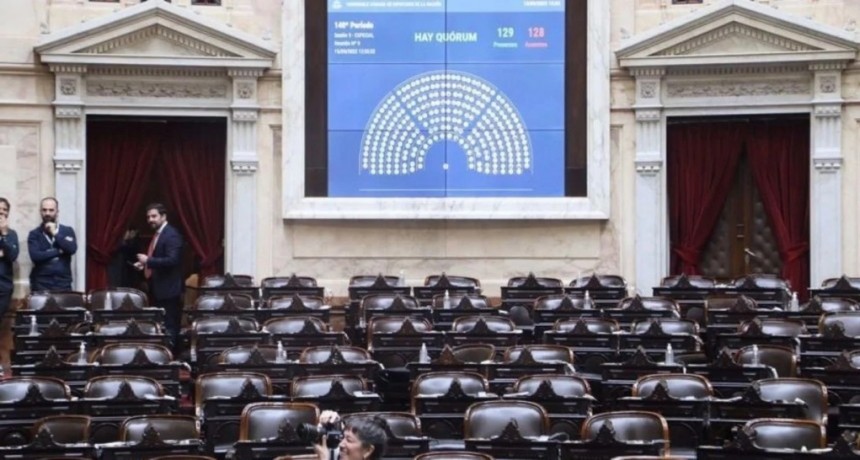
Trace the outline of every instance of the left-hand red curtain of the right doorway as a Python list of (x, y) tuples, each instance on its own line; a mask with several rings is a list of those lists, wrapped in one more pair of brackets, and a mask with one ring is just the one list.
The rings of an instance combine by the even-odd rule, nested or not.
[(672, 273), (697, 274), (701, 252), (731, 190), (744, 131), (743, 123), (719, 121), (679, 124), (668, 130)]

